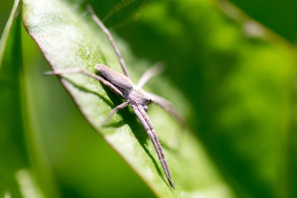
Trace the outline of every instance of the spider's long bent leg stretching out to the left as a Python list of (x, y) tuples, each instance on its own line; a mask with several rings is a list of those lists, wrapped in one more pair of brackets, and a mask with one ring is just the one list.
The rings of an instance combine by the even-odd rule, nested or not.
[(56, 69), (54, 71), (48, 71), (45, 72), (45, 75), (61, 75), (61, 74), (70, 74), (70, 73), (81, 73), (87, 76), (90, 76), (92, 78), (95, 78), (96, 80), (99, 80), (103, 85), (108, 87), (111, 91), (113, 91), (115, 94), (119, 95), (120, 97), (124, 98), (123, 93), (118, 90), (114, 85), (112, 85), (110, 82), (106, 81), (101, 76), (92, 74), (90, 72), (87, 72), (80, 68), (71, 68), (71, 69)]

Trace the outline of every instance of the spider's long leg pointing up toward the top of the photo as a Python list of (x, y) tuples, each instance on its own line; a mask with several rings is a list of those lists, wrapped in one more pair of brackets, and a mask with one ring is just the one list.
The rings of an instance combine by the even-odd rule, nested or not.
[(100, 26), (100, 28), (103, 30), (103, 32), (106, 34), (106, 36), (107, 36), (108, 40), (110, 41), (110, 43), (111, 43), (113, 49), (115, 50), (115, 52), (116, 52), (116, 54), (117, 54), (117, 56), (118, 56), (118, 58), (119, 58), (119, 62), (120, 62), (121, 66), (122, 66), (122, 69), (123, 69), (123, 71), (124, 71), (124, 74), (125, 74), (128, 78), (130, 78), (130, 75), (129, 75), (129, 72), (128, 72), (128, 70), (127, 70), (125, 61), (124, 61), (124, 59), (123, 59), (123, 57), (122, 57), (122, 55), (121, 55), (121, 52), (120, 52), (119, 49), (116, 47), (116, 45), (115, 45), (115, 43), (114, 43), (114, 40), (113, 40), (113, 38), (112, 38), (110, 32), (109, 32), (108, 29), (104, 26), (104, 24), (100, 21), (100, 19), (96, 16), (96, 14), (95, 14), (95, 12), (94, 12), (92, 6), (91, 6), (90, 4), (88, 4), (87, 7), (88, 7), (88, 9), (89, 9), (89, 12), (90, 12), (92, 18), (93, 18), (94, 21)]

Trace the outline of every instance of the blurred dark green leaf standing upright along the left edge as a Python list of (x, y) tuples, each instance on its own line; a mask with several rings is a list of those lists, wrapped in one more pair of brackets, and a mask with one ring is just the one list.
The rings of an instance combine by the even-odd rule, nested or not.
[(42, 198), (46, 181), (43, 190), (57, 197), (29, 126), (21, 25), (20, 1), (15, 0), (0, 41), (0, 195)]

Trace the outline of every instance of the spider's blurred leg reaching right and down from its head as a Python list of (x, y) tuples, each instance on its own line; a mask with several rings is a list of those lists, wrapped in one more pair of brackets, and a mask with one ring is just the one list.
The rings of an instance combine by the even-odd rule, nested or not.
[(157, 96), (155, 94), (147, 93), (153, 103), (161, 106), (168, 111), (173, 117), (175, 117), (182, 125), (185, 125), (184, 117), (173, 107), (173, 105), (166, 99)]

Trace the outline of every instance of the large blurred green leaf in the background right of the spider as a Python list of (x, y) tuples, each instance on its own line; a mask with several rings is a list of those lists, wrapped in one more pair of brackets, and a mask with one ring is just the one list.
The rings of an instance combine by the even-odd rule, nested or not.
[(290, 197), (296, 46), (248, 19), (209, 0), (156, 1), (118, 33), (138, 57), (170, 65), (192, 103), (191, 127), (238, 197)]

